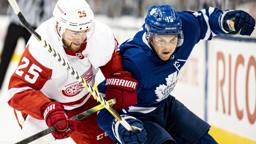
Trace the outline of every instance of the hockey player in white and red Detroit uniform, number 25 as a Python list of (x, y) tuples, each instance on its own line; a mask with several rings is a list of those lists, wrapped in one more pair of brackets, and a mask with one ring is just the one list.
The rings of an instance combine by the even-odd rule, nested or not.
[[(59, 0), (53, 17), (36, 32), (92, 87), (99, 68), (105, 78), (137, 83), (129, 72), (123, 71), (118, 42), (111, 29), (94, 19), (85, 0)], [(136, 87), (129, 91), (122, 86), (111, 87), (112, 92), (117, 90), (123, 93), (113, 94), (117, 99), (116, 109), (136, 104)], [(97, 113), (79, 121), (66, 119), (98, 103), (33, 36), (10, 78), (8, 94), (8, 104), (14, 108), (24, 138), (55, 125), (57, 131), (34, 144), (49, 144), (69, 136), (78, 144), (116, 144), (97, 125)], [(126, 97), (135, 100), (126, 101)]]

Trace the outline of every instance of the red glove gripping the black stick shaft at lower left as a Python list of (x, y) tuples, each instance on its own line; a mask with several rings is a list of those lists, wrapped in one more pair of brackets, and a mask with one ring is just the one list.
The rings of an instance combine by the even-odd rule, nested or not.
[(44, 117), (48, 127), (53, 125), (56, 127), (57, 131), (52, 132), (55, 139), (65, 139), (75, 132), (77, 122), (67, 119), (64, 106), (58, 102), (52, 102), (47, 105)]

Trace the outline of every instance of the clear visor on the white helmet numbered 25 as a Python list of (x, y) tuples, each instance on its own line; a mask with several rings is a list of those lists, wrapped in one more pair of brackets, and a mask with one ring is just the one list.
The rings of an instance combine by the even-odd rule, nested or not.
[(64, 40), (67, 40), (73, 43), (84, 43), (84, 42), (87, 42), (92, 37), (92, 34), (94, 33), (94, 29), (95, 29), (95, 23), (93, 23), (90, 28), (83, 31), (71, 31), (68, 29), (64, 29), (62, 33), (62, 38)]

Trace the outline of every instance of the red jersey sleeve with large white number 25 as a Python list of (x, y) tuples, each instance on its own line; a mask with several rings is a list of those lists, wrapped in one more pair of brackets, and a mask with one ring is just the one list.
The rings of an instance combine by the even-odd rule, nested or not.
[(40, 64), (29, 52), (29, 45), (12, 74), (8, 87), (8, 104), (36, 119), (44, 119), (43, 111), (51, 103), (40, 89), (52, 76), (52, 69)]

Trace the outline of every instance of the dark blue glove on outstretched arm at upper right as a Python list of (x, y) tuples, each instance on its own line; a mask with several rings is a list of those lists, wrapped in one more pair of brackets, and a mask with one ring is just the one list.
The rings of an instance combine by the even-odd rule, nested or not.
[(223, 18), (223, 28), (230, 34), (251, 35), (254, 27), (254, 18), (242, 10), (228, 11)]

